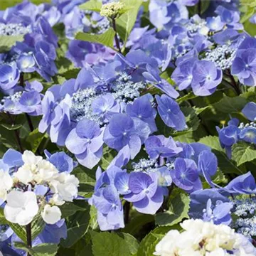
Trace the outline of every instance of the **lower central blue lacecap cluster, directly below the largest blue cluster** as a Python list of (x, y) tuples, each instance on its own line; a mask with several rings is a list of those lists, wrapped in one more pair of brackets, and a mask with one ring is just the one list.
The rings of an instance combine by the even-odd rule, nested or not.
[(208, 181), (217, 171), (215, 155), (203, 144), (176, 143), (171, 137), (151, 136), (145, 146), (149, 158), (132, 162), (132, 169), (124, 169), (129, 161), (128, 146), (119, 151), (106, 171), (97, 169), (90, 203), (97, 208), (101, 230), (124, 227), (120, 196), (133, 203), (140, 213), (154, 214), (164, 196), (169, 195), (169, 186), (188, 193), (201, 191), (200, 176)]

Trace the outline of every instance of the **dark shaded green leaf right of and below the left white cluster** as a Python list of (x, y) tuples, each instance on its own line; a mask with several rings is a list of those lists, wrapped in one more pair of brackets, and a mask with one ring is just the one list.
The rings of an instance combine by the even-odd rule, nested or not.
[(67, 218), (68, 237), (60, 241), (63, 247), (71, 247), (87, 233), (90, 224), (90, 206), (86, 205), (85, 210), (78, 210)]

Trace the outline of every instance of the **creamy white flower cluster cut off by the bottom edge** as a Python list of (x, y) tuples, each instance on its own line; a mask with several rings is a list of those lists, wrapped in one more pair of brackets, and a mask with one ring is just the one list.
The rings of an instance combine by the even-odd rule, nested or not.
[(256, 249), (247, 238), (228, 225), (203, 220), (185, 220), (183, 232), (170, 230), (156, 245), (159, 256), (255, 256)]

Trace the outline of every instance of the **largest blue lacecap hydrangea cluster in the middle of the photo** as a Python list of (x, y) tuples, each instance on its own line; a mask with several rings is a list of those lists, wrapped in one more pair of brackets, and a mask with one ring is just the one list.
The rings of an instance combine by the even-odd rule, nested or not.
[[(142, 57), (139, 63), (137, 55)], [(87, 168), (100, 161), (104, 143), (116, 150), (129, 146), (134, 159), (149, 134), (156, 132), (154, 97), (140, 96), (146, 81), (153, 79), (155, 87), (167, 94), (156, 95), (161, 118), (173, 129), (186, 129), (185, 117), (171, 99), (178, 92), (159, 77), (154, 64), (142, 51), (134, 50), (126, 58), (117, 55), (106, 65), (83, 68), (76, 80), (46, 92), (39, 131), (47, 130), (52, 142), (65, 144)], [(149, 74), (151, 70), (154, 73)]]

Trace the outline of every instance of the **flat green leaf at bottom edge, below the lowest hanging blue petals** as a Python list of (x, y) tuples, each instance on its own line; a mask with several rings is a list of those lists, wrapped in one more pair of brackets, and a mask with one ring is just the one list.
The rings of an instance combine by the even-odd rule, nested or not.
[(130, 256), (127, 242), (114, 233), (93, 233), (92, 252), (94, 256)]

